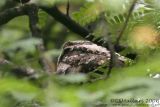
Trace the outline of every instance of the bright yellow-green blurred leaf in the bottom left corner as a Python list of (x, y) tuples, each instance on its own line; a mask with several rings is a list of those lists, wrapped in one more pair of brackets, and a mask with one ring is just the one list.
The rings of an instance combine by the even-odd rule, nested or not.
[(11, 107), (19, 101), (33, 100), (40, 92), (37, 87), (29, 82), (15, 78), (0, 79), (0, 84), (0, 105), (3, 107)]

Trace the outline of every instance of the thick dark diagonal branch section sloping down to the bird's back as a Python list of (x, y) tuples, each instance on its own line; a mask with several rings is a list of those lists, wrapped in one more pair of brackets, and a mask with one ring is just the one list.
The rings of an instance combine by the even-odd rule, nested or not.
[[(64, 26), (66, 26), (70, 31), (80, 35), (81, 37), (83, 37), (89, 41), (92, 41), (93, 43), (95, 43), (97, 45), (108, 48), (108, 46), (109, 46), (108, 42), (106, 42), (102, 38), (103, 36), (94, 40), (95, 36), (92, 34), (92, 32), (89, 32), (87, 29), (80, 26), (78, 23), (76, 23), (70, 17), (68, 17), (65, 14), (63, 14), (62, 12), (60, 12), (56, 6), (53, 6), (53, 7), (41, 6), (40, 8), (43, 11), (45, 11), (46, 13), (48, 13), (49, 15), (51, 15), (55, 20), (57, 20), (58, 22), (60, 22)], [(115, 51), (121, 51), (122, 49), (124, 49), (124, 47), (122, 47), (122, 46), (119, 46), (119, 47), (114, 46), (114, 48), (115, 48)]]

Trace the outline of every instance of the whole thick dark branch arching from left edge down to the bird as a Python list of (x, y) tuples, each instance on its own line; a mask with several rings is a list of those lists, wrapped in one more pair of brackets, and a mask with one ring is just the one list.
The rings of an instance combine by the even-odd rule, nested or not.
[[(28, 15), (28, 10), (32, 8), (35, 4), (24, 4), (19, 7), (14, 7), (11, 9), (8, 9), (2, 13), (0, 13), (0, 26), (3, 24), (8, 23), (10, 20), (14, 19), (15, 17)], [(89, 32), (87, 29), (80, 26), (78, 23), (76, 23), (74, 20), (72, 20), (70, 17), (66, 16), (62, 12), (60, 12), (56, 6), (50, 8), (50, 7), (40, 7), (45, 12), (47, 12), (49, 15), (54, 17), (58, 22), (65, 25), (69, 30), (72, 32), (82, 36), (83, 38), (86, 38), (89, 41), (94, 42), (97, 45), (104, 46), (108, 48), (108, 43), (104, 41), (102, 38), (98, 38), (94, 40), (94, 35)], [(122, 50), (123, 47), (116, 47), (115, 51)]]

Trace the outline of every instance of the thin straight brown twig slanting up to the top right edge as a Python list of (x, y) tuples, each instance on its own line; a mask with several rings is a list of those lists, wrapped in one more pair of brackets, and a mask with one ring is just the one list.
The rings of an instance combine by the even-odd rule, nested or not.
[(121, 29), (121, 31), (120, 31), (117, 39), (116, 39), (116, 43), (115, 43), (116, 46), (119, 46), (119, 41), (120, 41), (120, 39), (122, 38), (122, 36), (123, 36), (123, 34), (124, 34), (124, 31), (125, 31), (126, 28), (127, 28), (127, 25), (128, 25), (129, 19), (130, 19), (130, 16), (131, 16), (131, 14), (132, 14), (132, 11), (133, 11), (133, 9), (134, 9), (134, 6), (135, 6), (136, 2), (137, 2), (137, 0), (134, 0), (134, 1), (133, 1), (132, 5), (131, 5), (131, 7), (130, 7), (130, 9), (129, 9), (129, 11), (128, 11), (128, 15), (127, 15), (127, 17), (126, 17), (126, 21), (125, 21), (125, 23), (124, 23), (124, 25), (123, 25), (123, 27), (122, 27), (122, 29)]

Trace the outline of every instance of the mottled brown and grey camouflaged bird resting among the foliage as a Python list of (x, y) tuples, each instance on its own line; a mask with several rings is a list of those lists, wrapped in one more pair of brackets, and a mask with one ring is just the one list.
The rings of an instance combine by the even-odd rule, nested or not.
[[(115, 53), (119, 66), (124, 65), (125, 57)], [(88, 73), (109, 62), (110, 51), (90, 41), (70, 41), (63, 46), (57, 63), (58, 74)]]

